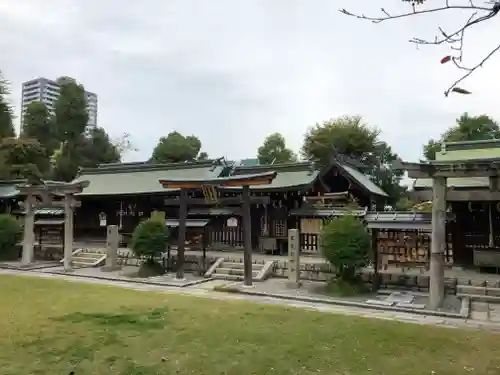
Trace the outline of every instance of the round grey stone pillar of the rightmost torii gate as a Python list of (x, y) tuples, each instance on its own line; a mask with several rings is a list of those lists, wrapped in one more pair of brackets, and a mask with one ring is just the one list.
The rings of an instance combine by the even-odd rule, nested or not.
[(432, 184), (432, 238), (430, 254), (429, 307), (438, 309), (444, 300), (444, 255), (446, 251), (446, 178)]

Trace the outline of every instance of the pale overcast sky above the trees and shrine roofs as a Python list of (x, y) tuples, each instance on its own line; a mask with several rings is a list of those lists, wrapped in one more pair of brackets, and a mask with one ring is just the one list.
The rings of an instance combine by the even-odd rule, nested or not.
[[(131, 134), (139, 151), (128, 160), (148, 158), (173, 130), (199, 136), (212, 157), (253, 157), (271, 132), (299, 150), (309, 126), (346, 114), (417, 160), (464, 111), (500, 120), (500, 53), (463, 85), (473, 95), (445, 99), (460, 74), (439, 64), (447, 49), (408, 43), (465, 13), (372, 24), (338, 12), (381, 6), (404, 9), (399, 0), (0, 0), (0, 70), (18, 115), (23, 81), (76, 78), (99, 96), (99, 125)], [(468, 34), (467, 61), (499, 42), (493, 22)]]

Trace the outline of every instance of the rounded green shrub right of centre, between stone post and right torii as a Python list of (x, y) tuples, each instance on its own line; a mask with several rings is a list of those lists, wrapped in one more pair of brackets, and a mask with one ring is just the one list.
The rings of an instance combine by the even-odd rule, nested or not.
[(334, 267), (337, 278), (353, 281), (356, 271), (370, 261), (370, 235), (354, 216), (332, 220), (320, 236), (323, 256)]

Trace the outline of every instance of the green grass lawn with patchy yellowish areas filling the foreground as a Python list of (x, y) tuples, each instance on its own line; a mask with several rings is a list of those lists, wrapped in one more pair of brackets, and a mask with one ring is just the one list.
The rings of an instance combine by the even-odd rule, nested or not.
[(0, 374), (499, 374), (500, 335), (0, 276)]

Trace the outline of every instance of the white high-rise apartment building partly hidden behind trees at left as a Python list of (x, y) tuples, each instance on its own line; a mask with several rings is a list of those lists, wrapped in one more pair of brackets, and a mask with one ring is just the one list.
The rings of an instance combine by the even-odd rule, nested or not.
[[(28, 104), (40, 101), (53, 114), (58, 97), (59, 85), (56, 81), (47, 78), (36, 78), (24, 82), (21, 96), (21, 124)], [(87, 111), (89, 113), (88, 126), (97, 126), (97, 95), (85, 91), (85, 99), (87, 100)]]

